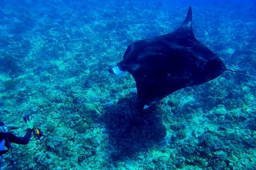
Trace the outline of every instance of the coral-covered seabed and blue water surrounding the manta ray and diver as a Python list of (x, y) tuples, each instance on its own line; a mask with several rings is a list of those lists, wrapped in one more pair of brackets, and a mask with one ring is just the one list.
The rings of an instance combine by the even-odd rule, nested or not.
[(135, 81), (107, 72), (131, 42), (196, 38), (228, 69), (256, 73), (255, 1), (0, 1), (0, 121), (28, 113), (45, 135), (2, 169), (255, 169), (256, 79), (225, 72), (139, 111)]

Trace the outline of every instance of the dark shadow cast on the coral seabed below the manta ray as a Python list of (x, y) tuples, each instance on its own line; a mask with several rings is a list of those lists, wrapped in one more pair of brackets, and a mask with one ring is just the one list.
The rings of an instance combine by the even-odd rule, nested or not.
[(117, 104), (106, 106), (100, 118), (109, 134), (110, 161), (147, 152), (166, 136), (166, 128), (155, 108), (140, 111), (137, 96), (120, 98)]

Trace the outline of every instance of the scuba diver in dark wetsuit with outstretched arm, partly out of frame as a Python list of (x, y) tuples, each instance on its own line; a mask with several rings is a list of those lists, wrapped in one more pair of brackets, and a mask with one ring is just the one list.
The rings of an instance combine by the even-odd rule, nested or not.
[[(34, 128), (33, 128), (34, 122), (30, 118), (29, 115), (24, 115), (23, 120), (28, 125), (26, 135), (24, 135), (23, 137), (17, 137), (16, 135), (9, 132), (9, 130), (14, 130), (14, 129), (18, 129), (18, 128), (11, 127), (9, 125), (4, 125), (3, 122), (0, 123), (0, 126), (4, 130), (4, 132), (0, 132), (0, 169), (1, 169), (2, 155), (6, 154), (6, 152), (8, 152), (9, 149), (11, 150), (12, 159), (11, 159), (11, 163), (8, 166), (15, 164), (15, 162), (14, 162), (14, 153), (13, 153), (12, 148), (11, 148), (11, 143), (16, 143), (16, 144), (20, 144), (20, 145), (27, 145), (29, 140), (31, 139), (31, 135), (32, 135), (32, 132), (34, 130)], [(9, 128), (9, 130), (6, 131), (5, 128)]]

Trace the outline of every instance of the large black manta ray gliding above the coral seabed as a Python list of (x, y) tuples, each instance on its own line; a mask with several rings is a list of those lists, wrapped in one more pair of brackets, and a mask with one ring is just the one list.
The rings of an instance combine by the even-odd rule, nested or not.
[(193, 34), (191, 7), (178, 30), (132, 42), (123, 60), (109, 69), (114, 74), (132, 74), (143, 109), (178, 89), (215, 79), (226, 70), (230, 69)]

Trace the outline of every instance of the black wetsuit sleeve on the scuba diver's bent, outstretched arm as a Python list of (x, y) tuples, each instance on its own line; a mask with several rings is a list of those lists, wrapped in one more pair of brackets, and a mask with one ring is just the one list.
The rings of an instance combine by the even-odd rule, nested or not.
[[(10, 132), (0, 132), (0, 142), (1, 140), (7, 140), (7, 137), (9, 139), (9, 142), (21, 144), (21, 145), (27, 145), (32, 135), (32, 129), (28, 128), (26, 135), (23, 137), (17, 137), (16, 135), (10, 133)], [(7, 142), (6, 142), (7, 143)]]

